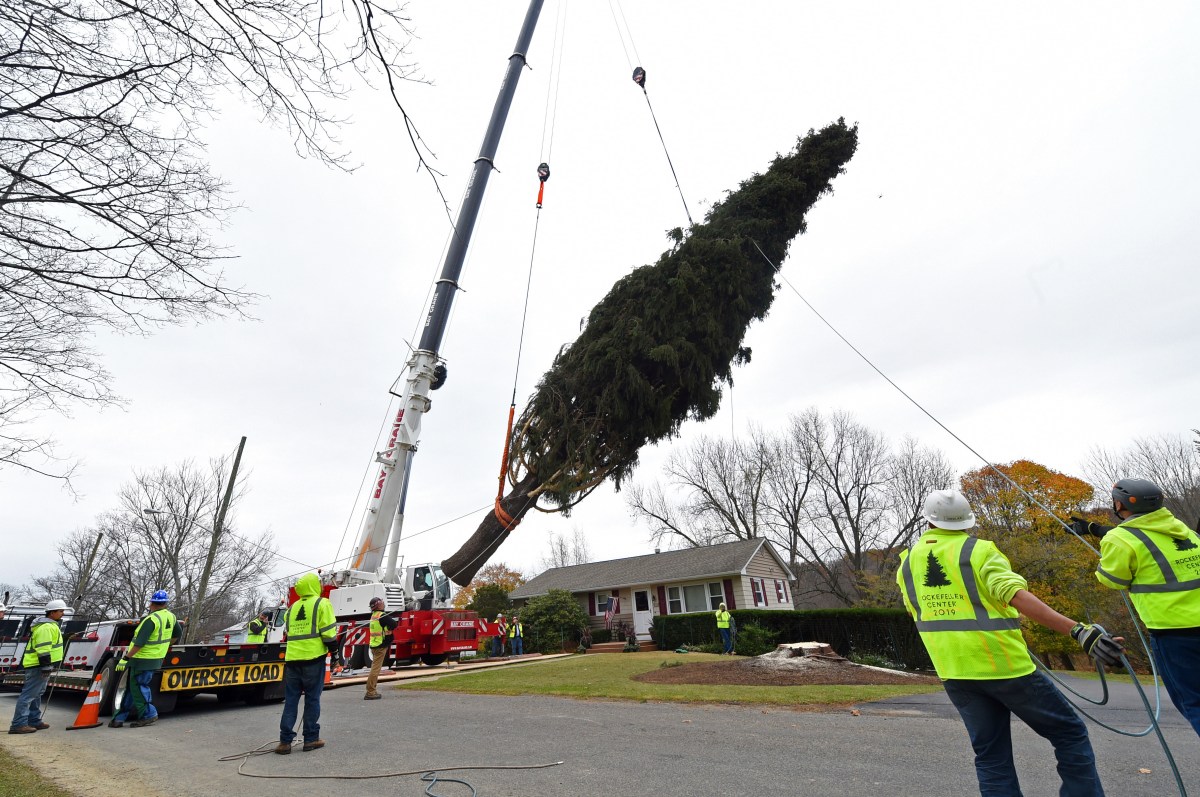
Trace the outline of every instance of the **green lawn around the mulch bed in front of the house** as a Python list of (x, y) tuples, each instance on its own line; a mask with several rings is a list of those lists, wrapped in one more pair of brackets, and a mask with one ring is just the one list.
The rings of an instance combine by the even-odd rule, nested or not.
[[(715, 661), (721, 657), (696, 653), (684, 663)], [(679, 661), (670, 652), (577, 655), (532, 664), (406, 683), (400, 689), (456, 691), (473, 695), (556, 695), (560, 697), (667, 701), (695, 703), (756, 703), (772, 706), (848, 706), (884, 697), (937, 691), (940, 685), (870, 687), (742, 687), (641, 683), (632, 677)]]

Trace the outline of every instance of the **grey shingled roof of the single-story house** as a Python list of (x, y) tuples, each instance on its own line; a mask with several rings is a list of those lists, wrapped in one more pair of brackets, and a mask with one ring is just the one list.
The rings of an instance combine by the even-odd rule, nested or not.
[(514, 589), (510, 598), (533, 598), (544, 595), (551, 589), (590, 592), (593, 589), (614, 589), (665, 581), (740, 574), (761, 547), (766, 547), (784, 568), (784, 571), (791, 576), (787, 565), (775, 552), (775, 549), (767, 540), (760, 538), (706, 547), (664, 551), (662, 553), (647, 553), (626, 559), (589, 562), (569, 568), (551, 568)]

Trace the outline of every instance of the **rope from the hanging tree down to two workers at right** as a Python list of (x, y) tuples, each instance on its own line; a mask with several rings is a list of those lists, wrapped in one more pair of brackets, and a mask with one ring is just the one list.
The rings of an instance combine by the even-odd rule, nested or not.
[[(988, 468), (992, 473), (997, 474), (1004, 481), (1007, 481), (1013, 487), (1015, 487), (1018, 492), (1020, 492), (1030, 502), (1032, 502), (1034, 505), (1037, 505), (1039, 509), (1042, 509), (1046, 515), (1049, 515), (1051, 519), (1054, 519), (1055, 522), (1057, 522), (1060, 526), (1062, 526), (1064, 529), (1067, 529), (1070, 534), (1073, 534), (1080, 543), (1082, 543), (1084, 545), (1086, 545), (1087, 549), (1092, 553), (1099, 556), (1099, 551), (1097, 551), (1096, 547), (1091, 543), (1088, 543), (1087, 540), (1085, 540), (1082, 538), (1082, 535), (1080, 535), (1074, 528), (1072, 528), (1061, 517), (1058, 517), (1055, 513), (1052, 513), (1045, 504), (1043, 504), (1034, 496), (1032, 496), (1027, 490), (1025, 490), (1025, 487), (1022, 487), (1016, 481), (1014, 481), (1007, 473), (1004, 473), (1003, 471), (1001, 471), (1000, 468), (997, 468), (995, 465), (992, 465), (990, 460), (988, 460), (985, 456), (983, 456), (982, 454), (979, 454), (979, 451), (974, 450), (970, 444), (967, 444), (966, 441), (964, 441), (961, 437), (959, 437), (953, 431), (950, 431), (950, 429), (947, 427), (946, 424), (943, 424), (941, 420), (938, 420), (937, 418), (935, 418), (934, 414), (930, 413), (928, 409), (925, 409), (925, 407), (920, 402), (918, 402), (916, 398), (913, 398), (911, 395), (908, 395), (900, 385), (898, 385), (895, 382), (893, 382), (892, 378), (888, 374), (886, 374), (883, 371), (881, 371), (880, 367), (876, 366), (875, 362), (872, 362), (870, 360), (870, 358), (868, 358), (865, 354), (863, 354), (863, 352), (860, 352), (858, 349), (858, 347), (856, 347), (853, 343), (851, 343), (850, 340), (846, 338), (845, 335), (842, 335), (840, 331), (838, 331), (838, 328), (835, 328), (832, 323), (829, 323), (829, 320), (824, 316), (822, 316), (821, 312), (816, 307), (814, 307), (812, 304), (808, 299), (804, 298), (804, 295), (796, 288), (796, 286), (793, 286), (787, 280), (787, 277), (784, 276), (782, 271), (780, 271), (779, 265), (776, 265), (769, 257), (767, 257), (767, 253), (762, 251), (762, 247), (758, 246), (757, 241), (755, 241), (754, 239), (750, 239), (750, 242), (758, 251), (758, 254), (762, 256), (762, 259), (766, 260), (767, 264), (770, 265), (772, 269), (774, 269), (775, 274), (784, 282), (784, 284), (786, 284), (788, 288), (791, 288), (792, 293), (794, 293), (797, 295), (797, 298), (800, 301), (803, 301), (805, 304), (805, 306), (808, 306), (809, 310), (812, 311), (812, 314), (815, 314), (818, 319), (821, 319), (821, 323), (823, 323), (826, 326), (828, 326), (829, 330), (834, 335), (836, 335), (841, 340), (842, 343), (845, 343), (846, 346), (848, 346), (850, 349), (854, 354), (857, 354), (859, 356), (859, 359), (862, 359), (868, 366), (870, 366), (870, 368), (872, 371), (875, 371), (877, 374), (880, 374), (901, 396), (904, 396), (905, 398), (907, 398), (908, 402), (913, 407), (916, 407), (922, 413), (924, 413), (924, 415), (926, 418), (929, 418), (938, 427), (941, 427), (942, 431), (944, 431), (947, 435), (949, 435), (952, 438), (954, 438), (960, 445), (962, 445), (962, 448), (965, 448), (966, 450), (971, 451), (971, 454), (976, 455), (976, 457), (978, 457), (985, 466), (988, 466)], [(1133, 606), (1129, 604), (1129, 597), (1127, 594), (1122, 593), (1121, 598), (1124, 600), (1126, 611), (1129, 613), (1130, 619), (1133, 619), (1134, 618), (1134, 611), (1133, 611)], [(1150, 663), (1151, 663), (1151, 673), (1152, 673), (1153, 682), (1154, 682), (1154, 708), (1151, 708), (1150, 700), (1146, 697), (1146, 693), (1145, 693), (1145, 690), (1141, 687), (1141, 682), (1138, 681), (1138, 676), (1134, 672), (1133, 666), (1129, 664), (1129, 659), (1127, 659), (1122, 654), (1121, 663), (1124, 665), (1126, 671), (1129, 673), (1129, 677), (1133, 681), (1134, 687), (1136, 688), (1138, 695), (1141, 697), (1142, 706), (1145, 707), (1146, 713), (1150, 717), (1150, 726), (1146, 727), (1145, 730), (1138, 731), (1138, 732), (1122, 731), (1120, 729), (1116, 729), (1116, 727), (1114, 727), (1111, 725), (1108, 725), (1108, 724), (1098, 720), (1097, 718), (1092, 717), (1091, 714), (1088, 714), (1084, 709), (1079, 708), (1074, 703), (1072, 703), (1072, 707), (1076, 712), (1079, 712), (1080, 714), (1082, 714), (1084, 717), (1086, 717), (1087, 719), (1090, 719), (1093, 723), (1096, 723), (1097, 725), (1100, 725), (1102, 727), (1105, 727), (1105, 729), (1108, 729), (1108, 730), (1110, 730), (1110, 731), (1112, 731), (1115, 733), (1118, 733), (1121, 736), (1141, 737), (1141, 736), (1146, 736), (1151, 731), (1153, 731), (1157, 735), (1157, 737), (1158, 737), (1159, 745), (1163, 748), (1163, 754), (1166, 756), (1166, 762), (1170, 765), (1171, 772), (1175, 775), (1175, 784), (1176, 784), (1176, 786), (1180, 790), (1180, 795), (1182, 797), (1187, 797), (1187, 789), (1183, 785), (1183, 779), (1180, 775), (1178, 767), (1175, 765), (1175, 756), (1171, 755), (1171, 749), (1166, 744), (1166, 739), (1163, 737), (1163, 731), (1162, 731), (1162, 729), (1159, 727), (1159, 724), (1158, 724), (1159, 707), (1160, 707), (1160, 696), (1159, 696), (1159, 690), (1158, 690), (1158, 671), (1154, 667), (1154, 657), (1153, 657), (1153, 654), (1150, 651), (1150, 643), (1147, 642), (1145, 635), (1142, 634), (1141, 629), (1138, 628), (1136, 621), (1134, 621), (1134, 628), (1138, 631), (1139, 641), (1141, 642), (1142, 648), (1146, 651), (1146, 655), (1147, 655), (1147, 658), (1150, 659)], [(1082, 699), (1082, 700), (1085, 700), (1085, 701), (1087, 701), (1087, 702), (1090, 702), (1090, 703), (1092, 703), (1094, 706), (1103, 706), (1104, 703), (1108, 702), (1108, 682), (1104, 679), (1104, 670), (1103, 670), (1102, 666), (1099, 666), (1099, 664), (1097, 664), (1097, 671), (1100, 675), (1100, 683), (1102, 683), (1102, 689), (1103, 689), (1103, 696), (1102, 696), (1102, 699), (1099, 701), (1096, 701), (1096, 700), (1092, 700), (1092, 699), (1090, 699), (1090, 697), (1087, 697), (1085, 695), (1081, 695), (1080, 693), (1075, 691), (1069, 685), (1067, 685), (1066, 683), (1063, 683), (1063, 681), (1061, 678), (1058, 678), (1057, 676), (1055, 676), (1052, 672), (1050, 672), (1050, 669), (1046, 667), (1043, 661), (1038, 660), (1037, 657), (1034, 657), (1034, 660), (1037, 660), (1038, 665), (1049, 675), (1050, 678), (1052, 678), (1056, 683), (1058, 683), (1060, 685), (1062, 685), (1064, 689), (1067, 689), (1067, 691), (1069, 691), (1070, 694), (1075, 695), (1076, 697), (1080, 697), (1080, 699)]]

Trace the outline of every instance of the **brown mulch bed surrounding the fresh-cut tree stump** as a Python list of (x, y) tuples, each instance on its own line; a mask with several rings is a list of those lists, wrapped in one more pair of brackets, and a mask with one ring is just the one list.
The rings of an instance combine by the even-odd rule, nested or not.
[(643, 683), (738, 684), (745, 687), (811, 687), (874, 684), (936, 684), (937, 676), (913, 676), (860, 667), (850, 663), (812, 661), (806, 666), (779, 666), (762, 659), (696, 661), (660, 667), (634, 676)]

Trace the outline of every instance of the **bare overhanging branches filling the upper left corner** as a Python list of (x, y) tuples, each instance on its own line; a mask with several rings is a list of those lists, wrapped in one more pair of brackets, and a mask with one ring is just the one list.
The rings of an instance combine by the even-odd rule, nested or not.
[(88, 344), (97, 329), (244, 312), (253, 295), (228, 280), (212, 238), (232, 205), (204, 160), (205, 122), (240, 98), (286, 126), (301, 155), (344, 168), (330, 112), (347, 90), (341, 76), (386, 83), (397, 107), (397, 83), (416, 79), (403, 10), (400, 0), (0, 4), (0, 465), (68, 475), (24, 425), (116, 401)]

